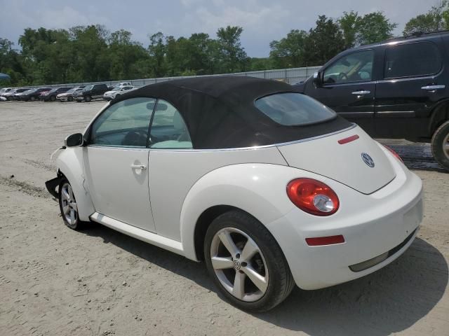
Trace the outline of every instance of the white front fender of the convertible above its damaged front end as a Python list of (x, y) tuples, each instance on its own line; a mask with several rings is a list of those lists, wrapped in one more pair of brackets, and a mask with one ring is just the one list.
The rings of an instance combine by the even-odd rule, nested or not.
[(83, 147), (66, 148), (56, 158), (56, 166), (72, 186), (81, 221), (89, 221), (95, 212), (83, 174)]

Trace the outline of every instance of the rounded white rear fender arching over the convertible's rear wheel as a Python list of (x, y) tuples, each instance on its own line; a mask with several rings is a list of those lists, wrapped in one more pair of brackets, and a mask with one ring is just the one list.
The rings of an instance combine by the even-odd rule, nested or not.
[(269, 164), (230, 165), (204, 175), (182, 204), (180, 230), (185, 256), (198, 260), (194, 232), (203, 211), (218, 205), (236, 207), (267, 226), (295, 207), (286, 193), (288, 182), (314, 176), (300, 169)]

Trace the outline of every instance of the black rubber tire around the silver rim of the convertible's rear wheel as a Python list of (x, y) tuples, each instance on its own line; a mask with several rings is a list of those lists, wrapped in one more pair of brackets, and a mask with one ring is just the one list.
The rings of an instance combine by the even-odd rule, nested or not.
[[(266, 262), (267, 274), (269, 274), (267, 289), (263, 296), (256, 301), (246, 302), (239, 300), (239, 298), (232, 295), (232, 293), (229, 293), (222, 283), (220, 283), (217, 274), (215, 274), (211, 261), (210, 249), (217, 232), (227, 228), (240, 230), (253, 239), (255, 244), (260, 248), (263, 255), (262, 258), (264, 258), (264, 261)], [(229, 302), (242, 310), (257, 312), (268, 311), (283, 302), (295, 287), (295, 282), (290, 272), (290, 268), (288, 267), (287, 260), (283, 255), (281, 247), (277, 244), (276, 239), (274, 239), (262, 223), (243, 211), (228, 211), (215, 218), (210, 224), (204, 242), (204, 258), (206, 260), (208, 272), (215, 282), (215, 286), (219, 288), (222, 295), (224, 295)], [(236, 258), (240, 257), (237, 256)], [(235, 270), (235, 272), (242, 271)]]

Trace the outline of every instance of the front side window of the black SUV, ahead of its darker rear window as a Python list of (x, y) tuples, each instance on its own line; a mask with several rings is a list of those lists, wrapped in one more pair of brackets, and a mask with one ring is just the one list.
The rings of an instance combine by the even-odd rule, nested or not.
[(373, 78), (373, 50), (346, 55), (324, 70), (325, 84), (369, 81)]

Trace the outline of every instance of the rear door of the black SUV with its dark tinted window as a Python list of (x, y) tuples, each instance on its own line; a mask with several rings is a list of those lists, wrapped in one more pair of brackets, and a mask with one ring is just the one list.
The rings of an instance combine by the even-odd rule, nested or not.
[(429, 137), (436, 102), (447, 97), (442, 50), (430, 41), (389, 43), (383, 79), (377, 82), (376, 133), (381, 137)]

